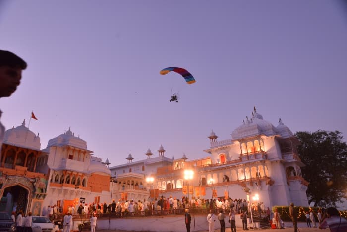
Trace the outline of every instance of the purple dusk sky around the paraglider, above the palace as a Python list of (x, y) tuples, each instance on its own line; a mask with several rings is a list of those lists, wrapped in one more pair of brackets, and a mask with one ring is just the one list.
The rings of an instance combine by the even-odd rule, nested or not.
[[(334, 0), (0, 0), (0, 49), (28, 63), (0, 99), (6, 129), (28, 120), (41, 149), (71, 126), (111, 166), (207, 157), (250, 117), (347, 139), (347, 10)], [(187, 85), (165, 67), (183, 67)], [(179, 102), (169, 102), (172, 93)]]

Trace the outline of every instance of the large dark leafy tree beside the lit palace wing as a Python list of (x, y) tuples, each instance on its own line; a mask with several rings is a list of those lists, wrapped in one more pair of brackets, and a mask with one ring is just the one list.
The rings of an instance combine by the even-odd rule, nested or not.
[(346, 198), (347, 145), (339, 131), (296, 132), (301, 145), (298, 153), (303, 178), (310, 184), (307, 188), (308, 202), (314, 206), (336, 206)]

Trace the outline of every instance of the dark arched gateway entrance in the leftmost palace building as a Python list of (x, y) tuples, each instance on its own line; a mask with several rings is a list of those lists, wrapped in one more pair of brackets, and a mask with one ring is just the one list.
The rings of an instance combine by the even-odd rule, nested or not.
[(16, 211), (23, 210), (26, 212), (28, 206), (28, 190), (22, 186), (10, 186), (5, 188), (3, 196), (7, 197), (7, 207), (13, 209), (16, 206)]

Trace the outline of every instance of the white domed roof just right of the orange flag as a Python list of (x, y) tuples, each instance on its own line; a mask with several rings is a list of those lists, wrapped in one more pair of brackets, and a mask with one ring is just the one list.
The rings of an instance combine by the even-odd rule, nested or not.
[(77, 148), (81, 148), (86, 150), (87, 149), (87, 142), (83, 139), (75, 136), (74, 133), (71, 131), (71, 127), (67, 131), (64, 132), (64, 134), (61, 134), (53, 139), (50, 139), (48, 141), (47, 147), (51, 146), (73, 146)]

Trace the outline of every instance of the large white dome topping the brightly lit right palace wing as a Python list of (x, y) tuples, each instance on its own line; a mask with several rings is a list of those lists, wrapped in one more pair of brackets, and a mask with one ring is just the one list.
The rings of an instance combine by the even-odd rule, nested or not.
[(268, 121), (265, 121), (263, 116), (257, 113), (254, 108), (252, 118), (249, 120), (247, 116), (246, 121), (243, 120), (243, 124), (233, 130), (231, 136), (232, 139), (236, 140), (261, 134), (270, 136), (276, 135), (277, 133), (274, 125)]

